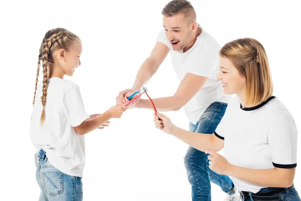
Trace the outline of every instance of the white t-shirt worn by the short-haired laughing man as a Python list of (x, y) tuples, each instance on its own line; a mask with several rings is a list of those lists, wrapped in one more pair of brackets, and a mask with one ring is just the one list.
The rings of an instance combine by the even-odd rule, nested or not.
[(157, 41), (165, 44), (172, 57), (173, 68), (180, 81), (187, 73), (208, 77), (200, 91), (184, 106), (184, 111), (193, 124), (196, 124), (205, 110), (214, 102), (228, 103), (229, 95), (223, 93), (221, 82), (216, 79), (219, 72), (219, 50), (217, 41), (202, 29), (195, 44), (186, 52), (175, 51), (163, 29)]

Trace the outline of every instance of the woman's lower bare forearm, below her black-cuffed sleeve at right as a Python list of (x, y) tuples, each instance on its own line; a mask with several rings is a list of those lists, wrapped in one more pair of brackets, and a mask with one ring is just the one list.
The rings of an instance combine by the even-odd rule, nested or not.
[(231, 169), (227, 174), (260, 186), (290, 187), (292, 185), (294, 170), (287, 169), (286, 172), (282, 172), (276, 168), (250, 169), (231, 165)]

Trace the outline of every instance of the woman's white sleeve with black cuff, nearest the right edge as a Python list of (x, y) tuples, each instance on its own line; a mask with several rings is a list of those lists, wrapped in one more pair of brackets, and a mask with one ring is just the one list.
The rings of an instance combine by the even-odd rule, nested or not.
[(270, 126), (268, 145), (274, 167), (297, 166), (297, 128), (292, 118), (280, 118)]

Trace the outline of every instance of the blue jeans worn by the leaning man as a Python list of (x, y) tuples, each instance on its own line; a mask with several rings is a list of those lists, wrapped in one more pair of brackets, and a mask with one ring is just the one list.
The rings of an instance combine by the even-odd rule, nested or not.
[[(223, 118), (227, 104), (214, 102), (203, 113), (196, 125), (190, 123), (189, 131), (203, 134), (213, 134)], [(229, 176), (220, 175), (209, 168), (208, 155), (193, 147), (189, 147), (184, 157), (187, 177), (192, 188), (193, 201), (210, 201), (211, 184), (217, 184), (228, 194), (234, 194), (234, 184)]]

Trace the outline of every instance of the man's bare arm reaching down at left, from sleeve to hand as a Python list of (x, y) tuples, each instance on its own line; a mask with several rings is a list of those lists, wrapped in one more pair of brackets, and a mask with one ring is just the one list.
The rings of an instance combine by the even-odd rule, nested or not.
[[(117, 105), (123, 105), (126, 103), (125, 93), (133, 93), (138, 91), (142, 86), (144, 86), (144, 84), (147, 83), (147, 81), (157, 72), (159, 66), (162, 64), (168, 53), (169, 48), (165, 44), (161, 42), (156, 43), (152, 53), (150, 53), (149, 57), (145, 59), (140, 66), (132, 88), (119, 92), (118, 96), (116, 97)], [(138, 100), (139, 99), (137, 98), (134, 103), (136, 103)]]

